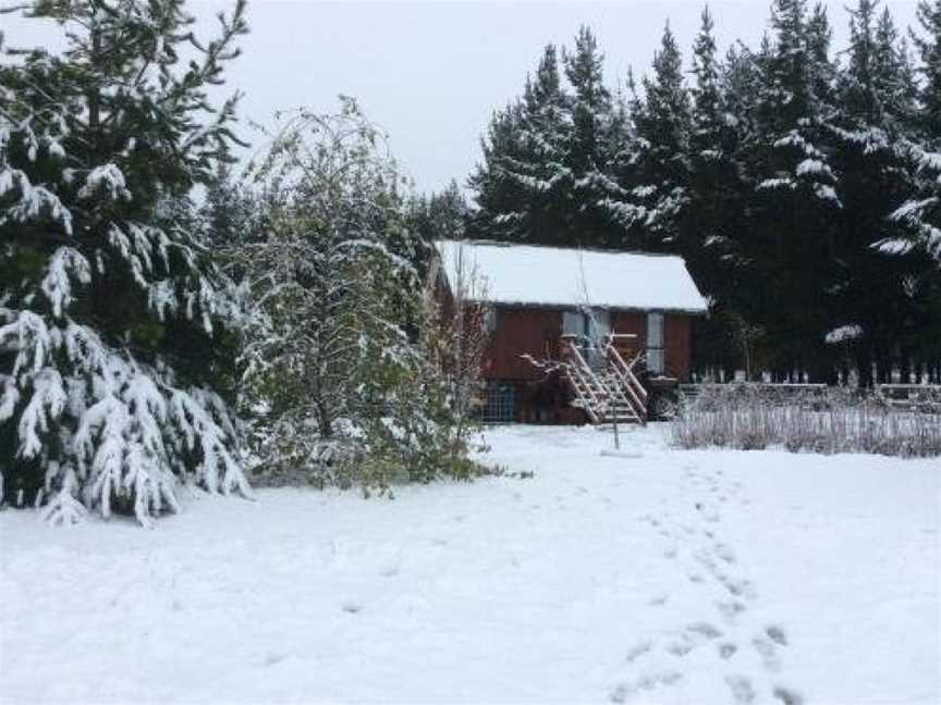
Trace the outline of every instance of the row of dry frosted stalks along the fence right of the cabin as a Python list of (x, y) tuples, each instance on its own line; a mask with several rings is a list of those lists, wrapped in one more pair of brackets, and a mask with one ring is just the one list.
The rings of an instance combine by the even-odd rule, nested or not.
[(783, 446), (826, 454), (941, 456), (941, 394), (927, 391), (922, 396), (914, 408), (900, 409), (865, 391), (707, 385), (681, 406), (673, 441), (683, 448)]

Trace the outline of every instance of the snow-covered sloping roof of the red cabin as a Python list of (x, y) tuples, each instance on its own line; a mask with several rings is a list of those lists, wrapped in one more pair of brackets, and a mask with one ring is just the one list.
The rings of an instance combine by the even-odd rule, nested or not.
[[(449, 285), (479, 280), (493, 304), (705, 313), (706, 300), (682, 257), (531, 245), (440, 240)], [(464, 273), (460, 276), (459, 273)]]

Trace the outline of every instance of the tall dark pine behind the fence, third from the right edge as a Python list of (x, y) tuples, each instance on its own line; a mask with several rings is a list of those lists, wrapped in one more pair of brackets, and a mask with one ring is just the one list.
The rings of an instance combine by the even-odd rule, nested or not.
[[(775, 373), (810, 370), (832, 374), (824, 360), (827, 329), (821, 292), (831, 279), (833, 223), (842, 208), (828, 149), (832, 107), (820, 95), (830, 69), (829, 28), (821, 13), (808, 16), (806, 0), (773, 0), (771, 36), (757, 57), (760, 87), (746, 165), (757, 184), (749, 194), (746, 257), (761, 286), (755, 309), (777, 352)], [(812, 22), (811, 22), (812, 20)], [(829, 92), (829, 89), (828, 89)]]

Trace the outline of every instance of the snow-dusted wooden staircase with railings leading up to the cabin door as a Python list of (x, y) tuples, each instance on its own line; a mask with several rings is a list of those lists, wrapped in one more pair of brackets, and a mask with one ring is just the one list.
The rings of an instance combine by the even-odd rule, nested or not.
[(608, 336), (599, 345), (601, 364), (585, 359), (573, 336), (563, 337), (565, 376), (575, 393), (573, 406), (585, 410), (591, 423), (647, 423), (647, 389), (634, 374), (640, 360), (626, 362)]

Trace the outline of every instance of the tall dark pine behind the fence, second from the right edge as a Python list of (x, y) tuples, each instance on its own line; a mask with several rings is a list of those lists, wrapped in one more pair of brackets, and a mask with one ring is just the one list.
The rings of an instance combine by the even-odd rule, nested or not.
[[(831, 329), (860, 331), (853, 343), (863, 384), (871, 366), (889, 374), (889, 358), (903, 347), (914, 322), (913, 290), (903, 286), (914, 258), (892, 258), (873, 247), (893, 231), (890, 214), (908, 198), (913, 171), (907, 129), (915, 112), (911, 66), (891, 15), (879, 16), (877, 0), (850, 10), (847, 61), (839, 73), (831, 121), (833, 164), (842, 174), (838, 193), (845, 208), (835, 217)], [(900, 233), (901, 234), (901, 233)], [(899, 356), (907, 360), (904, 349)]]

